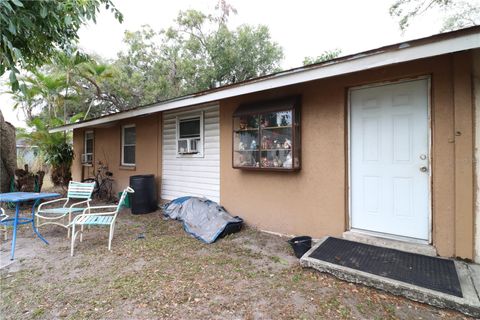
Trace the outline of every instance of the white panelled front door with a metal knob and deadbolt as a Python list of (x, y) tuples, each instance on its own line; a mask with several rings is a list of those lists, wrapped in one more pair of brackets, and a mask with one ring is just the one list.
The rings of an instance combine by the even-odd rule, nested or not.
[(428, 80), (350, 90), (351, 227), (429, 240)]

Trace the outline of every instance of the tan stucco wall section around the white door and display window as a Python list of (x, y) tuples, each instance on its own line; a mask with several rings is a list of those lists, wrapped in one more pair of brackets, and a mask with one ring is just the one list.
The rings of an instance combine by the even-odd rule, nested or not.
[[(472, 126), (468, 122), (472, 108), (466, 94), (470, 63), (468, 53), (458, 57), (442, 56), (221, 101), (222, 205), (261, 229), (316, 238), (340, 236), (348, 229), (348, 88), (431, 75), (432, 240), (442, 256), (472, 258), (473, 144)], [(455, 74), (454, 64), (459, 67)], [(232, 112), (240, 103), (290, 94), (302, 95), (301, 171), (274, 173), (233, 169)], [(459, 117), (458, 123), (455, 123), (455, 115)], [(456, 137), (455, 131), (461, 134)], [(470, 207), (468, 202), (462, 204), (469, 199)]]

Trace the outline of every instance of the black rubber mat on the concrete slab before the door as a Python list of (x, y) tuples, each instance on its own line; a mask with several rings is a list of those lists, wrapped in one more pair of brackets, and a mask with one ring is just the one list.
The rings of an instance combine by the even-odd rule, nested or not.
[(451, 260), (329, 237), (310, 258), (463, 297)]

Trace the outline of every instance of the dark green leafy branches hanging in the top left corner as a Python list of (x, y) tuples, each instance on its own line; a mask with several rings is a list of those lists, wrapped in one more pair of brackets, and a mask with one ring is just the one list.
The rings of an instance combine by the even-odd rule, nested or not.
[(13, 91), (19, 89), (19, 68), (32, 70), (49, 62), (78, 40), (78, 30), (94, 21), (100, 7), (122, 22), (111, 0), (0, 1), (0, 76), (10, 71)]

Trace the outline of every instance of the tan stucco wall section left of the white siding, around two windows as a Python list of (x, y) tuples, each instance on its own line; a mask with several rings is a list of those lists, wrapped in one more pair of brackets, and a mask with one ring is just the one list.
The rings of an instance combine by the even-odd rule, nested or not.
[[(160, 199), (161, 174), (161, 114), (131, 118), (117, 122), (108, 127), (93, 128), (94, 131), (94, 163), (101, 161), (108, 165), (113, 172), (114, 191), (123, 190), (129, 177), (137, 174), (154, 174), (157, 177), (157, 192)], [(121, 126), (135, 124), (136, 126), (136, 153), (134, 168), (122, 167), (121, 157)], [(86, 130), (92, 130), (91, 128)], [(74, 152), (76, 159), (72, 167), (74, 180), (81, 180), (92, 176), (95, 167), (83, 167), (80, 155), (83, 153), (83, 135), (85, 130), (74, 130)], [(83, 176), (82, 176), (83, 169)]]

